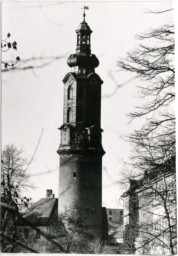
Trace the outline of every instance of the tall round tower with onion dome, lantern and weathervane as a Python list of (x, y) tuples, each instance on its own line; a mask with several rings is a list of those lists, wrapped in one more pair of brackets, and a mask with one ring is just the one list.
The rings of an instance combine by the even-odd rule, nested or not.
[[(84, 10), (85, 11), (85, 10)], [(102, 156), (101, 84), (99, 61), (90, 50), (92, 30), (83, 21), (76, 30), (76, 52), (63, 79), (64, 109), (60, 155), (59, 213), (72, 207), (86, 212), (87, 232), (101, 237)]]

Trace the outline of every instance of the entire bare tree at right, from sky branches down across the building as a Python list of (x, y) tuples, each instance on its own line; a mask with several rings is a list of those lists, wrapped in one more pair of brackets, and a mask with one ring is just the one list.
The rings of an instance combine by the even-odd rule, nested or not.
[[(175, 254), (174, 26), (164, 25), (138, 36), (138, 39), (141, 41), (138, 49), (129, 53), (126, 60), (118, 62), (123, 70), (135, 73), (140, 78), (139, 92), (144, 102), (130, 114), (131, 120), (142, 118), (144, 125), (127, 137), (133, 143), (134, 150), (129, 163), (132, 171), (125, 175), (124, 183), (126, 179), (143, 178), (143, 171), (151, 173), (153, 177), (156, 175), (159, 182), (155, 182), (154, 178), (146, 180), (144, 176), (145, 183), (140, 188), (145, 192), (136, 190), (139, 206), (135, 211), (138, 211), (139, 217), (133, 221), (133, 229), (136, 228), (138, 234), (142, 233), (140, 236), (145, 240), (140, 246), (136, 246), (135, 240), (132, 240), (132, 246), (134, 244), (134, 250), (142, 249), (142, 254), (148, 254), (159, 244), (163, 250), (169, 249), (171, 254)], [(155, 210), (158, 206), (161, 209), (159, 218)], [(142, 223), (141, 213), (145, 213)], [(163, 226), (161, 222), (164, 222)]]

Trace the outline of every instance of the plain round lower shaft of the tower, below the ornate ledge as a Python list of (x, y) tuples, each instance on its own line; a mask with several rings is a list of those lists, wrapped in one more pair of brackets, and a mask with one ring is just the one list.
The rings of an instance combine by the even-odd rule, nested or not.
[(79, 207), (86, 213), (86, 228), (100, 237), (102, 221), (101, 157), (79, 154), (60, 157), (59, 213)]

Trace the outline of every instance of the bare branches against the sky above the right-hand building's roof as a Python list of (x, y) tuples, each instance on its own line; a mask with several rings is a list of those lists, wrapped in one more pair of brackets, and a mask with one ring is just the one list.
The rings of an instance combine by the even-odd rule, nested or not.
[(146, 169), (175, 155), (174, 26), (154, 29), (139, 39), (145, 44), (118, 64), (142, 80), (139, 89), (146, 103), (130, 116), (132, 119), (145, 117), (146, 123), (131, 134), (129, 140), (136, 145), (132, 157), (132, 160), (137, 157), (135, 166)]

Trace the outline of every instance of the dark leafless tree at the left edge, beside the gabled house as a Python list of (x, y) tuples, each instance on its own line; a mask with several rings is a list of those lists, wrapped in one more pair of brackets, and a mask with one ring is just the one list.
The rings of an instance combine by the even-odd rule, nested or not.
[[(28, 207), (30, 198), (23, 191), (30, 187), (25, 171), (26, 159), (14, 145), (5, 146), (1, 160), (1, 244), (2, 251), (13, 252), (19, 240), (16, 221), (19, 212)], [(7, 207), (4, 207), (7, 206)], [(17, 214), (16, 214), (17, 213)], [(10, 238), (9, 238), (10, 237)]]

